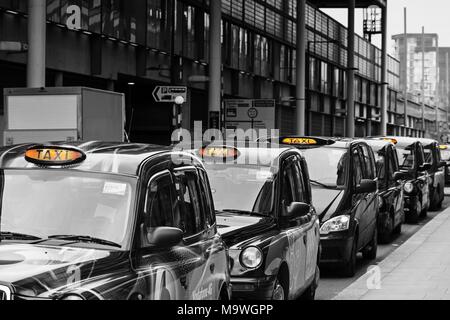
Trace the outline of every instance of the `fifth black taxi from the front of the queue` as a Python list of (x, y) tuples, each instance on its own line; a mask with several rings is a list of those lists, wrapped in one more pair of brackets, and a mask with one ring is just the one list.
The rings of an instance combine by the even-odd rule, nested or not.
[(425, 150), (417, 138), (382, 138), (395, 144), (400, 170), (407, 172), (409, 178), (404, 185), (406, 221), (417, 223), (430, 209), (431, 164), (426, 162)]

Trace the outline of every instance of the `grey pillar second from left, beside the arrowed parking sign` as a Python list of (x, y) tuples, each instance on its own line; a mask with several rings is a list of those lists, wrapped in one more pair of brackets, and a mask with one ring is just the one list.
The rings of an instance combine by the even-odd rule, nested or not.
[[(209, 123), (208, 128), (221, 129), (222, 111), (222, 1), (210, 1), (209, 29)], [(218, 115), (218, 117), (217, 117)]]

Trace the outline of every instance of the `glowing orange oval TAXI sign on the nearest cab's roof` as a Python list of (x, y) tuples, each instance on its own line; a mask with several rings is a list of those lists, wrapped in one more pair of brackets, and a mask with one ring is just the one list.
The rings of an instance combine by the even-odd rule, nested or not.
[(76, 148), (36, 146), (25, 152), (25, 160), (41, 166), (68, 166), (86, 160), (86, 154)]

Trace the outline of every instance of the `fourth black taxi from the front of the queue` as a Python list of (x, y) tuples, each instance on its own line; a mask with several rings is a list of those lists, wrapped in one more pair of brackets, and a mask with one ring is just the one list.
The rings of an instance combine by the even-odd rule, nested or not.
[(400, 234), (405, 222), (404, 183), (408, 174), (400, 171), (397, 151), (391, 141), (366, 139), (372, 148), (377, 164), (378, 196), (378, 238), (381, 243), (389, 243)]

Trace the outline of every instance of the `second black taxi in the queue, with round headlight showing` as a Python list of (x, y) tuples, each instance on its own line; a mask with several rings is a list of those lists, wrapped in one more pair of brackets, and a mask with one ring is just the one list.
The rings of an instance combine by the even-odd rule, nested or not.
[(298, 150), (209, 145), (194, 152), (204, 160), (229, 247), (233, 299), (314, 299), (319, 219)]

